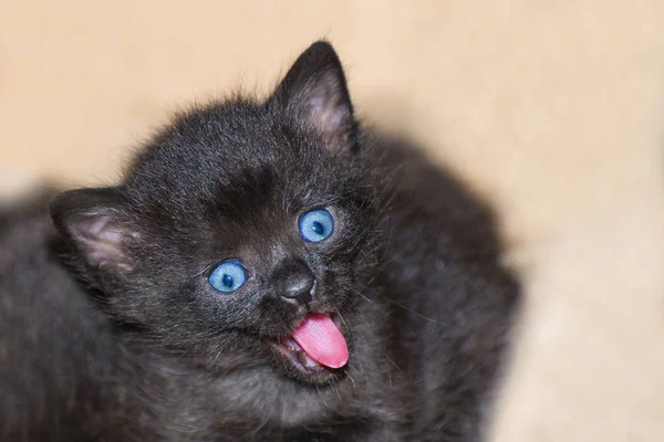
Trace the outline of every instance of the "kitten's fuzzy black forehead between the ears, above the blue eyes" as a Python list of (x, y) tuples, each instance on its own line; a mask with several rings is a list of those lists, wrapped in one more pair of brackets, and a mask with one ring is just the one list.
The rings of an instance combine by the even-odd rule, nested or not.
[(301, 124), (236, 103), (180, 117), (138, 155), (127, 188), (174, 215), (257, 215), (325, 202), (341, 190), (344, 162)]

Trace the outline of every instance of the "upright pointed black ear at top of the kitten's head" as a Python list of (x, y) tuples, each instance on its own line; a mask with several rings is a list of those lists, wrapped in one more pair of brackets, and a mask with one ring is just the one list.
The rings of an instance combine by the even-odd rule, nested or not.
[(270, 104), (320, 131), (331, 151), (354, 148), (356, 124), (339, 56), (324, 41), (313, 43), (292, 65)]

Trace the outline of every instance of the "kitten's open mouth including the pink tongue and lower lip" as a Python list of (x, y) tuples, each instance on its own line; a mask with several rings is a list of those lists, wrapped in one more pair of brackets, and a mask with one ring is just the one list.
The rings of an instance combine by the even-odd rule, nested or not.
[(349, 360), (346, 341), (338, 324), (325, 314), (312, 313), (291, 336), (277, 341), (280, 352), (305, 375), (338, 370)]

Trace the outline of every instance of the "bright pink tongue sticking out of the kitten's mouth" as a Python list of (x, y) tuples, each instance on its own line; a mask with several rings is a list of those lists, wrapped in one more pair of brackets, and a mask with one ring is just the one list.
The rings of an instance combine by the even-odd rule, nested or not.
[(340, 368), (349, 361), (349, 347), (330, 316), (311, 314), (293, 332), (293, 339), (317, 362)]

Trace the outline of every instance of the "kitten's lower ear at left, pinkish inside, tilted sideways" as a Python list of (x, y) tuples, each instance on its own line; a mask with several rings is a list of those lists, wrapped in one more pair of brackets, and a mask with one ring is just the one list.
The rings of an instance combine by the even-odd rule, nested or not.
[(132, 270), (126, 245), (137, 233), (116, 188), (61, 193), (51, 203), (51, 217), (76, 257), (90, 269), (114, 274)]

